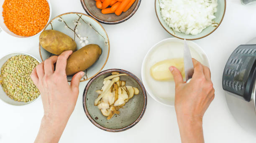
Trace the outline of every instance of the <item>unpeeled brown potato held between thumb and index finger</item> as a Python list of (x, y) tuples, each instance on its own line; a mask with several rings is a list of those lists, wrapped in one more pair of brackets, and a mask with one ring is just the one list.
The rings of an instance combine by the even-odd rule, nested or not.
[(97, 44), (89, 44), (71, 54), (67, 59), (67, 76), (91, 67), (100, 57), (101, 52), (102, 50)]

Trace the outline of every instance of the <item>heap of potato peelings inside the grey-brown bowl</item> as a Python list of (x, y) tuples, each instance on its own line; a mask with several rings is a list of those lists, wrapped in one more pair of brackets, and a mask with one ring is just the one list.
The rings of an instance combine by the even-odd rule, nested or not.
[(94, 103), (103, 116), (107, 117), (107, 120), (113, 118), (115, 114), (120, 114), (118, 110), (123, 108), (134, 95), (139, 94), (138, 88), (126, 86), (126, 81), (120, 81), (120, 76), (127, 76), (127, 74), (118, 72), (112, 72), (111, 74), (103, 80), (104, 86), (102, 89), (96, 91), (99, 95)]

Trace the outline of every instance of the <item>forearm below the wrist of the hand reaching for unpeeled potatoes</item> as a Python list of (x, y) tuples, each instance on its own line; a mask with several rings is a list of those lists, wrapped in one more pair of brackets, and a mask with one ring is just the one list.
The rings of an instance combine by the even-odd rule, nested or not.
[(58, 143), (68, 119), (56, 120), (44, 116), (35, 143)]

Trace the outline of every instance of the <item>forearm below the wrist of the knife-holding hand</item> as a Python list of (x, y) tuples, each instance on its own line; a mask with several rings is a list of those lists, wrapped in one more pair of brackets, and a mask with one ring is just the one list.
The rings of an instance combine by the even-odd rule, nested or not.
[(202, 119), (178, 119), (182, 143), (204, 143)]

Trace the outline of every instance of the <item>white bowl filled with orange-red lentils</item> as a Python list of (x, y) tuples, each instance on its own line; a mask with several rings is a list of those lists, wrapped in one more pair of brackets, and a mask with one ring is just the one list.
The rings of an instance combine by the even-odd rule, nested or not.
[(18, 38), (39, 35), (50, 21), (49, 0), (0, 0), (0, 28)]

